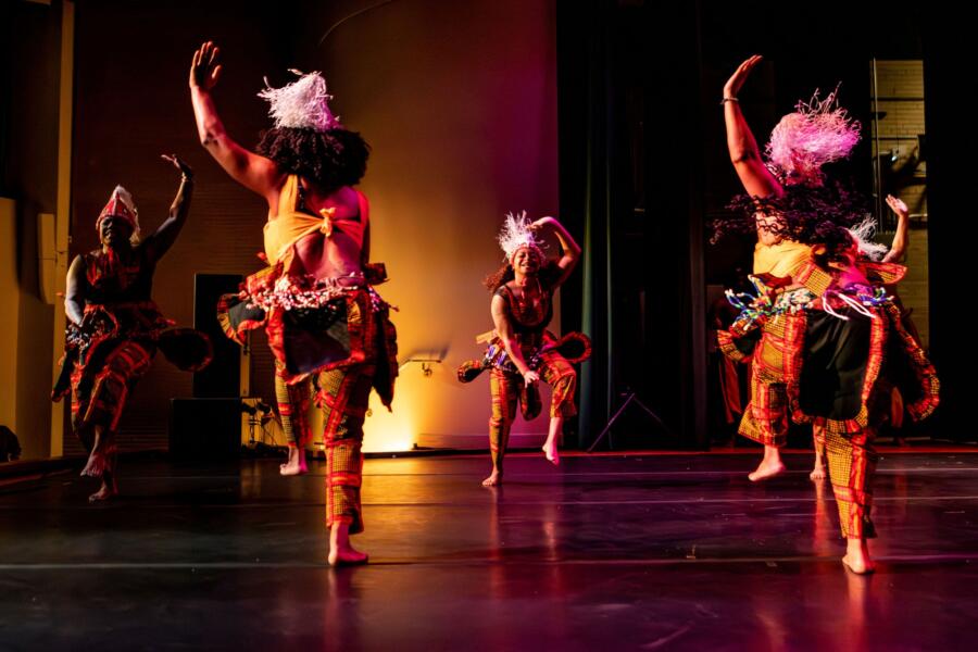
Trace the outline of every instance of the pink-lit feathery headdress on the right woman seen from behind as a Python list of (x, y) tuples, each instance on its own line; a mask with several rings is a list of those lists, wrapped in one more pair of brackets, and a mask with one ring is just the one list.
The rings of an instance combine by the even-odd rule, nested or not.
[(838, 87), (824, 100), (818, 91), (799, 101), (770, 133), (765, 154), (785, 185), (820, 186), (822, 166), (845, 159), (860, 141), (862, 125), (837, 104)]

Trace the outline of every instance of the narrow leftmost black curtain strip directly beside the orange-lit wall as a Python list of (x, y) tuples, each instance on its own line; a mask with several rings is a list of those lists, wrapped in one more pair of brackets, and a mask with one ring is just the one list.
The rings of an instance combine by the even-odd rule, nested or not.
[(584, 254), (561, 291), (564, 330), (582, 330), (592, 340), (591, 360), (578, 385), (580, 446), (610, 416), (612, 366), (611, 215), (615, 99), (614, 8), (611, 3), (557, 3), (557, 118), (561, 220), (580, 239)]

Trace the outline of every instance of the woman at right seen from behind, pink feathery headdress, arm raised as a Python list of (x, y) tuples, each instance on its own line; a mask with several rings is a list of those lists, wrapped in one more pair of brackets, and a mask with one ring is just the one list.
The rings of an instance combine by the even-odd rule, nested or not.
[[(863, 211), (852, 193), (826, 184), (822, 172), (848, 156), (858, 125), (835, 106), (835, 93), (799, 104), (775, 127), (765, 164), (737, 98), (760, 60), (743, 62), (724, 87), (730, 159), (748, 196), (731, 204), (747, 220), (718, 221), (717, 230), (757, 234), (752, 279), (758, 296), (732, 297), (743, 310), (730, 331), (720, 334), (720, 347), (735, 358), (752, 354), (752, 397), (740, 434), (763, 443), (765, 452), (750, 479), (785, 469), (778, 448), (789, 414), (819, 428), (847, 538), (842, 562), (869, 573), (877, 459), (872, 409), (883, 393), (880, 369), (895, 351), (906, 354), (923, 380), (923, 391), (907, 405), (918, 418), (936, 405), (937, 380), (882, 289), (902, 268), (860, 260), (849, 228)], [(899, 347), (888, 347), (888, 337)]]

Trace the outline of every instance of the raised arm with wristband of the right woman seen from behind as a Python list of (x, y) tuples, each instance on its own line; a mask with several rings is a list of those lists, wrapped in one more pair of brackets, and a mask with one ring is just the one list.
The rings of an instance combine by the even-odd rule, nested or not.
[(727, 149), (730, 152), (730, 162), (740, 177), (744, 190), (752, 197), (780, 197), (785, 193), (781, 184), (764, 165), (761, 158), (761, 149), (754, 139), (751, 128), (740, 111), (740, 102), (737, 93), (740, 92), (743, 83), (755, 65), (761, 61), (761, 55), (755, 54), (744, 61), (734, 72), (724, 85), (724, 122), (727, 126)]

